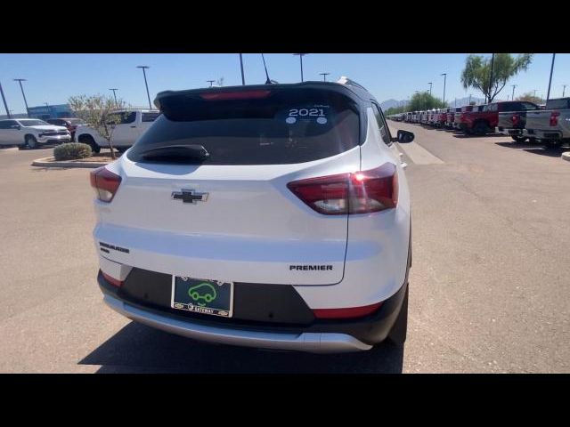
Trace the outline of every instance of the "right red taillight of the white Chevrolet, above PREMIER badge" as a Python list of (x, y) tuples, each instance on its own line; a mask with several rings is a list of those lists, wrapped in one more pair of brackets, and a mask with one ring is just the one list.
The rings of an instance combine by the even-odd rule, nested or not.
[(370, 214), (398, 204), (398, 174), (391, 163), (370, 171), (293, 181), (287, 187), (325, 215)]

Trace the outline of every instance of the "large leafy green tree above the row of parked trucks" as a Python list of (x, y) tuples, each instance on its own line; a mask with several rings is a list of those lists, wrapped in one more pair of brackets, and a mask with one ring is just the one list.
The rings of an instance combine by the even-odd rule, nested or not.
[(492, 102), (509, 78), (526, 70), (532, 60), (533, 53), (523, 53), (516, 58), (510, 53), (495, 53), (491, 81), (491, 58), (471, 54), (465, 60), (461, 83), (466, 90), (473, 87), (485, 95), (485, 101)]

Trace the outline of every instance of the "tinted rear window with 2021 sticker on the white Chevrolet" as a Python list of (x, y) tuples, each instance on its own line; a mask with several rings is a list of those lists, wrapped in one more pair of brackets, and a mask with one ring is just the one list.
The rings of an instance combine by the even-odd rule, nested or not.
[(164, 114), (127, 153), (167, 145), (202, 145), (204, 165), (283, 165), (338, 155), (358, 145), (354, 101), (322, 90), (287, 89), (265, 98), (204, 100), (199, 95), (162, 101)]

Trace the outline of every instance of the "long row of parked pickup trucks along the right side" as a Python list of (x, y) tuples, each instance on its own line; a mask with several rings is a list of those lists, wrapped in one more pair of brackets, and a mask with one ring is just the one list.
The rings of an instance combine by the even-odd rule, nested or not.
[(570, 98), (549, 100), (545, 107), (529, 101), (500, 101), (408, 111), (388, 118), (398, 122), (457, 129), (474, 135), (502, 133), (516, 142), (529, 140), (562, 145), (570, 141)]

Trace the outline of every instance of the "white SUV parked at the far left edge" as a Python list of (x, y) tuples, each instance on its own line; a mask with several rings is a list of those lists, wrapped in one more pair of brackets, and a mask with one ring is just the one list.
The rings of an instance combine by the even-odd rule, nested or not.
[(36, 149), (39, 144), (61, 144), (71, 141), (63, 126), (50, 125), (37, 118), (0, 120), (0, 145), (18, 145)]

